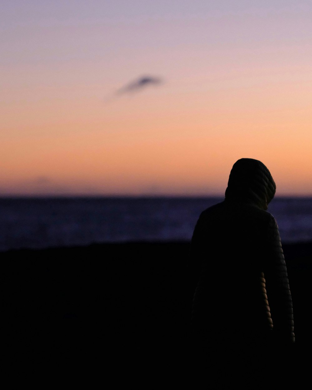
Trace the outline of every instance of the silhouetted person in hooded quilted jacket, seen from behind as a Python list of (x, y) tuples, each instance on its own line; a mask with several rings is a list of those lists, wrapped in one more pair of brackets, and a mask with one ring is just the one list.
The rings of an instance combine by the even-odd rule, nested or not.
[(263, 364), (266, 371), (269, 357), (294, 342), (278, 226), (266, 211), (275, 190), (261, 161), (236, 161), (225, 200), (203, 211), (193, 232), (188, 266), (193, 358), (214, 358), (216, 369), (227, 364), (238, 370), (257, 361), (255, 367)]

